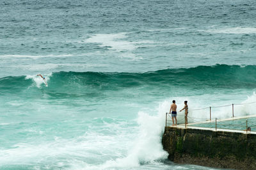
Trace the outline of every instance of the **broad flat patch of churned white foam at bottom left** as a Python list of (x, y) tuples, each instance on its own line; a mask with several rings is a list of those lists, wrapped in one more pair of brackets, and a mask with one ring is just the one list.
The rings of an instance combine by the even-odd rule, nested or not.
[[(51, 167), (51, 169), (56, 166), (61, 169), (64, 168), (63, 166), (72, 166), (68, 169), (76, 169), (76, 167), (82, 169), (85, 166), (92, 168), (92, 164), (87, 162), (93, 160), (93, 165), (95, 165), (93, 167), (98, 169), (97, 163), (102, 162), (102, 157), (104, 159), (116, 155), (122, 156), (120, 152), (123, 153), (125, 146), (130, 142), (127, 137), (129, 138), (133, 134), (127, 133), (127, 127), (122, 127), (125, 126), (122, 124), (116, 122), (105, 125), (103, 123), (102, 127), (97, 127), (96, 130), (93, 128), (92, 131), (86, 130), (84, 135), (73, 139), (63, 139), (55, 136), (54, 140), (44, 141), (44, 137), (43, 140), (38, 137), (39, 139), (33, 139), (33, 141), (14, 144), (12, 148), (0, 148), (0, 165), (37, 165), (40, 162)], [(127, 126), (129, 130), (132, 129), (129, 125)], [(105, 128), (111, 132), (109, 134), (97, 132), (97, 130), (105, 130)], [(24, 130), (30, 134), (49, 133), (34, 128)], [(122, 130), (125, 132), (122, 132)], [(63, 159), (63, 156), (65, 159)]]

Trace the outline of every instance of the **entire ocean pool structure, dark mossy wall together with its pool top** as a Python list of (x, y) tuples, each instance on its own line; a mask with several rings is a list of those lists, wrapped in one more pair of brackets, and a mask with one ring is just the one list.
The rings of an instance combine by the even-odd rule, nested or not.
[[(207, 109), (210, 119), (211, 107)], [(179, 164), (256, 169), (256, 114), (235, 117), (231, 113), (231, 118), (211, 120), (204, 118), (206, 114), (201, 118), (191, 114), (186, 125), (180, 115), (177, 126), (172, 126), (172, 118), (166, 113), (162, 144), (168, 158)]]

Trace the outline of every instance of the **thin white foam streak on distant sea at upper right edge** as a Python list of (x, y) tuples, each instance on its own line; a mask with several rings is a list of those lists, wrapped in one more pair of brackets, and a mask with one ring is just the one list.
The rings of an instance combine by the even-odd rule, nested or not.
[(207, 33), (214, 34), (256, 34), (256, 27), (227, 27), (205, 30)]

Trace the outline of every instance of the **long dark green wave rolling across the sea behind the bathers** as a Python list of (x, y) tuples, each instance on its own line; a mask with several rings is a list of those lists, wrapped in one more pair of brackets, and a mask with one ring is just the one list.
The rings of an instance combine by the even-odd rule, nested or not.
[[(197, 66), (145, 73), (56, 72), (47, 77), (49, 89), (63, 89), (63, 93), (77, 91), (77, 94), (85, 91), (93, 93), (134, 87), (159, 87), (159, 84), (163, 88), (255, 88), (256, 65)], [(39, 88), (41, 83), (34, 75), (4, 77), (0, 79), (0, 90), (19, 89), (33, 84)]]

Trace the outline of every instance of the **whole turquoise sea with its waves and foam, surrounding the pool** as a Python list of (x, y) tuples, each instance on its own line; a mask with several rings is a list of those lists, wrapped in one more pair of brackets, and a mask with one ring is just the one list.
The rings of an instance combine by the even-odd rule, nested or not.
[(167, 160), (170, 102), (256, 101), (255, 1), (0, 5), (0, 169), (211, 169)]

